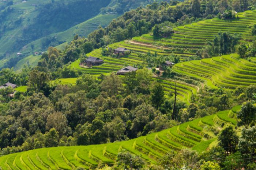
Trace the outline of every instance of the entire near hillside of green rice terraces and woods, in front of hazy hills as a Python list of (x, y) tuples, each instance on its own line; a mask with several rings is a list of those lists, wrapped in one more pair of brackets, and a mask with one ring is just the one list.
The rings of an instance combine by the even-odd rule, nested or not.
[(154, 2), (1, 70), (0, 167), (255, 169), (255, 3)]

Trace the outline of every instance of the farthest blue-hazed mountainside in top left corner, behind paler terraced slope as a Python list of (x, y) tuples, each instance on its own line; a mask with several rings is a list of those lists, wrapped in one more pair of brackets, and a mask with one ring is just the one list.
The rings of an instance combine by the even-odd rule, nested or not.
[[(19, 52), (22, 48), (26, 48), (26, 44), (30, 41), (54, 32), (64, 31), (81, 21), (90, 19), (91, 17), (98, 15), (100, 12), (99, 9), (108, 5), (109, 2), (110, 0), (102, 1), (101, 4), (94, 5), (93, 8), (91, 7), (92, 3), (87, 3), (87, 7), (90, 7), (91, 11), (88, 10), (87, 7), (84, 7), (84, 9), (87, 9), (87, 12), (83, 12), (82, 15), (80, 15), (80, 13), (82, 13), (81, 8), (84, 3), (79, 0), (29, 0), (7, 6), (1, 11), (7, 12), (4, 19), (1, 20), (3, 28), (1, 27), (0, 31), (3, 36), (1, 36), (0, 39), (0, 43), (2, 44), (0, 47), (0, 56), (15, 56), (16, 52)], [(54, 5), (61, 5), (62, 9), (57, 9)], [(74, 7), (75, 10), (72, 13), (69, 12), (69, 14), (67, 14), (67, 6), (73, 7), (74, 5), (76, 6)], [(9, 10), (7, 8), (9, 8)], [(47, 10), (52, 10), (52, 13), (49, 13)], [(43, 18), (42, 13), (47, 15), (44, 15)], [(68, 19), (68, 17), (72, 17), (76, 13), (77, 16), (73, 17), (72, 20)], [(53, 18), (50, 17), (51, 15), (58, 17)], [(52, 20), (50, 20), (48, 16), (52, 18)], [(47, 30), (43, 31), (45, 27), (47, 27)]]

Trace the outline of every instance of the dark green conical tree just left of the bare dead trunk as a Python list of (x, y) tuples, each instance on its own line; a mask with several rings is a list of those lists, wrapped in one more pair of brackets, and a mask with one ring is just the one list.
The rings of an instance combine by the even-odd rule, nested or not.
[(155, 84), (151, 90), (151, 102), (155, 108), (158, 108), (163, 104), (165, 99), (165, 93), (163, 91), (163, 86), (160, 83)]

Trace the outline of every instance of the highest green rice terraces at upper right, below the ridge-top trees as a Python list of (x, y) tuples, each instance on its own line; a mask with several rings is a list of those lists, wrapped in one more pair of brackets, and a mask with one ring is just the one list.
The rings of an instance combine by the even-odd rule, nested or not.
[(187, 56), (195, 55), (197, 50), (206, 46), (206, 40), (212, 41), (214, 35), (217, 35), (219, 31), (241, 34), (241, 42), (254, 40), (255, 38), (250, 35), (250, 26), (256, 23), (256, 11), (238, 13), (238, 17), (238, 19), (232, 20), (213, 18), (176, 27), (174, 28), (175, 33), (168, 38), (158, 39), (148, 34), (133, 37), (124, 46), (135, 51), (148, 51), (147, 48), (152, 48), (152, 51), (157, 51), (162, 55), (169, 55), (173, 52), (184, 59)]

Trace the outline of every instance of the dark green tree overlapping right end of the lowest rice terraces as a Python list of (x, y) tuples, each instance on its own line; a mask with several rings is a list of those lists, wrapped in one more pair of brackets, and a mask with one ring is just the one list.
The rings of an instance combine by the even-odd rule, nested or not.
[(226, 127), (218, 136), (218, 145), (223, 147), (226, 154), (234, 153), (238, 144), (238, 137), (232, 126)]

